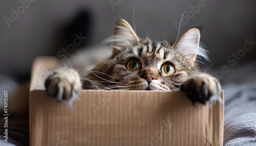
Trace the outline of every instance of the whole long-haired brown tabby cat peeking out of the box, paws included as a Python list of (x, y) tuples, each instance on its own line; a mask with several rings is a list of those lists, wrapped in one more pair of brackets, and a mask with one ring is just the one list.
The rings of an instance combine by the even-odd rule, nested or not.
[[(200, 45), (200, 31), (193, 28), (175, 42), (139, 38), (129, 23), (116, 22), (109, 59), (86, 74), (73, 68), (54, 70), (45, 81), (46, 91), (57, 101), (69, 101), (81, 89), (184, 91), (193, 102), (216, 100), (220, 82), (200, 72), (197, 57), (208, 59)], [(84, 63), (84, 62), (82, 62)]]

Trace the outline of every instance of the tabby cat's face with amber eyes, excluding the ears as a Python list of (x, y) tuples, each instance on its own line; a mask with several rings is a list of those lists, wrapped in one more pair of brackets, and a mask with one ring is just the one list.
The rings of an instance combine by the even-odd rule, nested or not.
[[(193, 71), (167, 42), (142, 40), (113, 59), (116, 85), (133, 90), (178, 90)], [(109, 78), (111, 79), (111, 78)], [(121, 88), (119, 88), (121, 89)]]

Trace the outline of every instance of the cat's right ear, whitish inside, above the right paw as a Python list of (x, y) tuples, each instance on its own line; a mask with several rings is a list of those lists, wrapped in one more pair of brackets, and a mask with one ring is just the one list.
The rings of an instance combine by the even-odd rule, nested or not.
[(184, 55), (186, 63), (193, 65), (199, 50), (200, 31), (196, 28), (185, 32), (176, 43), (173, 43), (175, 50)]

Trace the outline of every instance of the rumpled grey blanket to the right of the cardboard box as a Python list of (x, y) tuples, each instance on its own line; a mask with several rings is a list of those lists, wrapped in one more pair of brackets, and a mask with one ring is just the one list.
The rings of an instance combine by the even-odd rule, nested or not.
[(224, 145), (256, 145), (255, 62), (238, 67), (224, 79)]

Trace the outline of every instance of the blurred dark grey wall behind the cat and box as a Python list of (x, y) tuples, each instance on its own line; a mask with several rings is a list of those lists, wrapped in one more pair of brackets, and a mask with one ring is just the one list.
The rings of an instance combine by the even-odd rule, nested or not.
[[(0, 2), (1, 74), (28, 77), (36, 56), (56, 55), (56, 51), (53, 51), (56, 32), (80, 11), (90, 15), (90, 25), (85, 25), (90, 33), (84, 36), (90, 40), (88, 45), (100, 43), (112, 35), (115, 21), (120, 18), (126, 19), (131, 26), (135, 21), (137, 34), (142, 38), (175, 40), (178, 35), (177, 23), (187, 7), (180, 35), (190, 28), (201, 26), (201, 41), (210, 51), (210, 59), (216, 60), (214, 66), (227, 63), (228, 56), (243, 48), (245, 39), (256, 41), (256, 1), (253, 0), (138, 0), (137, 3), (135, 0), (30, 1)], [(24, 6), (21, 2), (25, 3)], [(21, 7), (25, 6), (27, 8), (23, 11)], [(13, 10), (20, 14), (7, 24), (6, 18), (12, 18)], [(239, 62), (255, 60), (255, 48), (253, 46), (252, 50), (246, 52)], [(60, 50), (61, 47), (55, 49)]]

